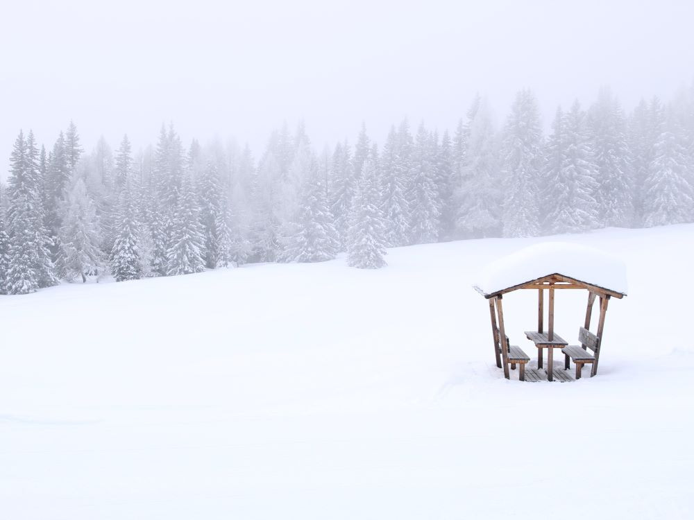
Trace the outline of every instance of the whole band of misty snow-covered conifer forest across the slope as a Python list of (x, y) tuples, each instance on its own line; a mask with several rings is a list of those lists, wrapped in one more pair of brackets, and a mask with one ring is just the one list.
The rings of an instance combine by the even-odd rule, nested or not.
[(602, 89), (559, 108), (548, 136), (532, 92), (501, 128), (477, 96), (455, 131), (393, 125), (382, 146), (316, 153), (303, 125), (250, 148), (193, 140), (173, 125), (133, 153), (101, 138), (85, 153), (70, 123), (46, 150), (19, 132), (0, 187), (0, 292), (60, 280), (185, 275), (248, 262), (357, 268), (385, 248), (694, 220), (694, 86), (626, 114)]

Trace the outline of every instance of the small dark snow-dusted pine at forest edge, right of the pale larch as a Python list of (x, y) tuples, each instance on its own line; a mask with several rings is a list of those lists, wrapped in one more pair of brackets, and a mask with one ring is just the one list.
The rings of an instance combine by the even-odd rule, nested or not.
[(142, 276), (139, 254), (141, 232), (130, 182), (121, 190), (117, 211), (118, 234), (111, 250), (111, 272), (116, 281), (137, 280)]

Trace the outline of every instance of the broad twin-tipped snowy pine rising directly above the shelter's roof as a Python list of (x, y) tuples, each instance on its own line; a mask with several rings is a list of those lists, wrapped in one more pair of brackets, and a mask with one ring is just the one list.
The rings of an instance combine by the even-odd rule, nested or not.
[(545, 157), (545, 229), (550, 234), (579, 233), (598, 225), (597, 168), (586, 128), (586, 114), (575, 101), (557, 110)]

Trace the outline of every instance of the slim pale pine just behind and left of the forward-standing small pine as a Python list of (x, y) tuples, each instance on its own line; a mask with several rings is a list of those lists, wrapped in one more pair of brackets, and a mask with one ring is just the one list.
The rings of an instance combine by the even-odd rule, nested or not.
[(352, 199), (357, 191), (357, 179), (350, 154), (350, 146), (345, 140), (338, 143), (332, 153), (330, 164), (330, 211), (335, 222), (337, 239), (341, 250), (346, 248)]

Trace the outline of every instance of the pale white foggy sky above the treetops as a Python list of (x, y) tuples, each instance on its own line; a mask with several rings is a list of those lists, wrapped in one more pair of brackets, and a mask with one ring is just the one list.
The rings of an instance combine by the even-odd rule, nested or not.
[(285, 120), (319, 149), (362, 120), (452, 128), (477, 91), (499, 119), (521, 87), (545, 119), (600, 85), (630, 108), (691, 85), (693, 20), (688, 0), (3, 1), (0, 166), (19, 128), (49, 148), (70, 119), (87, 149), (174, 121), (258, 155)]

